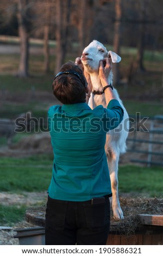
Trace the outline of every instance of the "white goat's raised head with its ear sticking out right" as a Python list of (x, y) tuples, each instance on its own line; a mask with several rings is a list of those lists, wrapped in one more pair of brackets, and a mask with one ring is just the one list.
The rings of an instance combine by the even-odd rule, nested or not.
[(99, 70), (99, 62), (104, 58), (111, 58), (112, 62), (120, 62), (121, 57), (118, 54), (107, 51), (101, 42), (93, 40), (86, 48), (84, 48), (81, 61), (88, 73)]

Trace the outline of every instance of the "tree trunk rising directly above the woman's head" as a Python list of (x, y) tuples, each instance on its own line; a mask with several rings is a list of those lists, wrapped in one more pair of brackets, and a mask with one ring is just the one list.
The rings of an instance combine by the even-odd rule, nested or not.
[(56, 14), (57, 14), (57, 29), (56, 29), (56, 67), (55, 72), (57, 73), (61, 65), (64, 63), (67, 52), (67, 37), (68, 37), (68, 26), (70, 19), (70, 7), (71, 0), (56, 1)]

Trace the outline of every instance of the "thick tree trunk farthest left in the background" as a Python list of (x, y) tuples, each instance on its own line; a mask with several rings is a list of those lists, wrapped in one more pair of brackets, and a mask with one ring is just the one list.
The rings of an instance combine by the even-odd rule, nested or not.
[(28, 76), (28, 59), (29, 59), (29, 35), (28, 29), (26, 27), (24, 9), (28, 4), (28, 0), (18, 0), (18, 32), (20, 38), (20, 60), (18, 68), (18, 76), (27, 77)]

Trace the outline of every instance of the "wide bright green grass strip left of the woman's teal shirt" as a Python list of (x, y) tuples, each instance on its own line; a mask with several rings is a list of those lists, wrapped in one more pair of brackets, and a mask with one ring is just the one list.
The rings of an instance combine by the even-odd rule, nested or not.
[(1, 157), (0, 191), (45, 191), (51, 179), (53, 159), (36, 156), (24, 159)]

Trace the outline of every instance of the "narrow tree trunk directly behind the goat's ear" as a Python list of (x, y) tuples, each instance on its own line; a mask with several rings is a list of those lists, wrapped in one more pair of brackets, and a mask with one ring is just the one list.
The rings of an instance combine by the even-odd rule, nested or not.
[[(120, 55), (120, 40), (121, 40), (121, 16), (122, 7), (121, 0), (115, 1), (115, 24), (114, 24), (114, 39), (113, 39), (113, 51)], [(114, 64), (114, 80), (113, 84), (118, 84), (120, 81), (120, 69), (119, 63)]]

